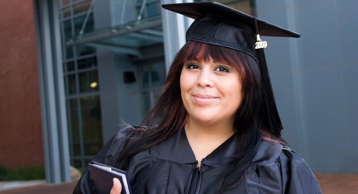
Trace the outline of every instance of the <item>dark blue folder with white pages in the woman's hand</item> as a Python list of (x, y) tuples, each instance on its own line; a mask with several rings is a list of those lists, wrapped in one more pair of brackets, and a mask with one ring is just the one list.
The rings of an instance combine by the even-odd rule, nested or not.
[[(125, 179), (122, 178), (122, 176), (118, 175), (117, 173), (102, 169), (96, 165), (111, 168), (112, 171), (116, 171), (117, 173), (122, 174), (125, 177)], [(119, 169), (116, 169), (111, 166), (107, 166), (105, 164), (101, 164), (101, 163), (98, 163), (95, 161), (91, 161), (90, 163), (88, 163), (88, 168), (89, 168), (89, 171), (91, 172), (92, 179), (95, 182), (98, 194), (110, 193), (110, 191), (113, 187), (113, 178), (117, 178), (121, 181), (121, 184), (122, 184), (122, 193), (121, 194), (132, 194), (132, 189), (131, 189), (129, 178), (128, 178), (126, 171), (119, 170)]]

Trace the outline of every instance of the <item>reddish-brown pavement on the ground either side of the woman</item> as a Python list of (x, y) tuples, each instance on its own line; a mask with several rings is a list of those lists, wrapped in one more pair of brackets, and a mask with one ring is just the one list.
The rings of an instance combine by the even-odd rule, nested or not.
[[(315, 174), (324, 194), (357, 194), (358, 174)], [(40, 183), (36, 186), (28, 186), (0, 191), (0, 194), (67, 194), (72, 193), (77, 180), (63, 184)], [(20, 181), (19, 181), (20, 182)], [(3, 182), (4, 183), (4, 182)], [(1, 185), (1, 182), (0, 182)]]

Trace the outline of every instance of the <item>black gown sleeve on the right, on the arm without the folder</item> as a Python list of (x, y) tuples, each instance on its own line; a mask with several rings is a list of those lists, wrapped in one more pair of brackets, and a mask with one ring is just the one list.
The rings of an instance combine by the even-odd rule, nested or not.
[(284, 147), (280, 157), (282, 190), (284, 194), (321, 194), (318, 181), (305, 160)]

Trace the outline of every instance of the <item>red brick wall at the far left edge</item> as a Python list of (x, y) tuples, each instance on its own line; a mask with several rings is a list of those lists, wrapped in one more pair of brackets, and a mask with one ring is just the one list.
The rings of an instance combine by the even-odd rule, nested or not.
[(43, 165), (32, 0), (0, 1), (0, 165)]

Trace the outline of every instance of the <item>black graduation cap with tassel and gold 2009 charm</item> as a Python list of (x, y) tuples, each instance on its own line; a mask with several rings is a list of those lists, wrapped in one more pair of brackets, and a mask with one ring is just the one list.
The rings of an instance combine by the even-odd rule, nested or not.
[(187, 41), (224, 46), (255, 59), (261, 74), (263, 125), (275, 136), (280, 136), (282, 123), (263, 52), (267, 42), (262, 41), (260, 35), (294, 38), (301, 35), (217, 2), (165, 4), (162, 7), (195, 19), (185, 35)]

